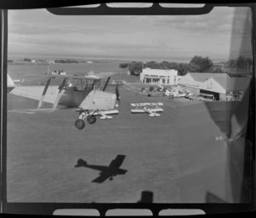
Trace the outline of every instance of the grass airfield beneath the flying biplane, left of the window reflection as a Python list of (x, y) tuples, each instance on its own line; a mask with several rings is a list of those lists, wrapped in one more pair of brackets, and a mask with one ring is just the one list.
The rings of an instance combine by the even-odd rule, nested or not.
[[(78, 112), (8, 113), (7, 196), (9, 202), (137, 203), (143, 191), (153, 203), (180, 203), (177, 166), (177, 109), (185, 104), (165, 97), (137, 96), (120, 88), (119, 114), (76, 129)], [(163, 102), (158, 118), (131, 114), (131, 103)], [(36, 108), (37, 100), (8, 95), (8, 110)], [(93, 181), (95, 169), (125, 155), (113, 181)]]

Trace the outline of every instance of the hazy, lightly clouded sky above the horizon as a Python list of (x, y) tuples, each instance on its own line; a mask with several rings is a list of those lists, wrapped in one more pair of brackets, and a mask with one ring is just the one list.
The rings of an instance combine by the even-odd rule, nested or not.
[(60, 16), (46, 9), (9, 10), (9, 57), (188, 62), (201, 55), (229, 60), (252, 53), (251, 14), (247, 8), (228, 7), (195, 16)]

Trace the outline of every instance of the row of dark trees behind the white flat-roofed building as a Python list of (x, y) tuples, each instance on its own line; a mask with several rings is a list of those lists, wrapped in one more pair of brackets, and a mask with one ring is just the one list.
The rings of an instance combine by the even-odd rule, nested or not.
[(132, 61), (128, 63), (121, 63), (119, 67), (122, 69), (128, 68), (131, 75), (139, 75), (143, 72), (143, 68), (149, 67), (151, 69), (174, 69), (177, 70), (178, 75), (183, 76), (188, 72), (216, 72), (212, 70), (212, 60), (208, 57), (194, 56), (189, 63), (177, 63), (162, 61), (157, 63), (155, 61), (149, 61), (143, 63), (141, 61)]

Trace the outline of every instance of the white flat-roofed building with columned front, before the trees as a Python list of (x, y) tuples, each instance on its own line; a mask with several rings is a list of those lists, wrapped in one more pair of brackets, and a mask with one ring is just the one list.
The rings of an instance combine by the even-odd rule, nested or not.
[(140, 74), (140, 81), (148, 84), (177, 85), (177, 71), (145, 68)]

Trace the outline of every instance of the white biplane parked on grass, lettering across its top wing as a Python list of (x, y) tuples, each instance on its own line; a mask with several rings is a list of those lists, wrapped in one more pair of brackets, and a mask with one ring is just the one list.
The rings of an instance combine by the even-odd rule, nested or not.
[(161, 102), (157, 103), (131, 103), (131, 106), (135, 106), (135, 109), (131, 109), (131, 112), (148, 112), (149, 117), (159, 117), (160, 114), (157, 112), (163, 112), (164, 109), (160, 106), (164, 104)]

